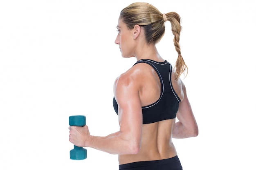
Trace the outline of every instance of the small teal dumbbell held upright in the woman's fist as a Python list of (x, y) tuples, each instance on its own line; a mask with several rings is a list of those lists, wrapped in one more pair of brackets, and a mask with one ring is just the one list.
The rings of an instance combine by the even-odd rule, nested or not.
[[(86, 117), (83, 115), (74, 115), (69, 117), (70, 126), (85, 126)], [(70, 150), (70, 159), (82, 160), (87, 158), (87, 150), (83, 147), (75, 146)]]

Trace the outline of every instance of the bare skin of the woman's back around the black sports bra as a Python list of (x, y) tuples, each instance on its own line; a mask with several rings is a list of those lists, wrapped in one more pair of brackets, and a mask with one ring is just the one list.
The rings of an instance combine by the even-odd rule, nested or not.
[[(141, 79), (141, 84), (144, 85), (139, 89), (141, 106), (148, 106), (156, 102), (161, 93), (161, 83), (155, 70), (152, 66), (145, 63), (136, 64), (132, 69), (143, 69), (145, 73), (143, 76), (144, 79)], [(171, 82), (176, 92), (175, 94), (177, 94), (182, 101), (183, 91), (181, 83), (179, 79), (175, 80), (174, 72), (172, 72), (171, 77)], [(172, 131), (174, 126), (175, 118), (143, 124), (141, 149), (139, 153), (135, 155), (119, 155), (119, 164), (175, 157), (177, 152), (172, 143)]]

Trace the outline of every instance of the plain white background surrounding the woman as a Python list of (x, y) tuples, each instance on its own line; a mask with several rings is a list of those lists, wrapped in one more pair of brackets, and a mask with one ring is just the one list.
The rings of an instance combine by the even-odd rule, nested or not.
[[(117, 155), (91, 148), (70, 160), (68, 117), (85, 115), (92, 135), (119, 130), (113, 82), (136, 60), (114, 41), (132, 2), (0, 1), (0, 170), (118, 169)], [(184, 170), (255, 169), (253, 1), (146, 2), (182, 18), (183, 81), (200, 130), (173, 140)], [(174, 64), (169, 22), (157, 47)]]

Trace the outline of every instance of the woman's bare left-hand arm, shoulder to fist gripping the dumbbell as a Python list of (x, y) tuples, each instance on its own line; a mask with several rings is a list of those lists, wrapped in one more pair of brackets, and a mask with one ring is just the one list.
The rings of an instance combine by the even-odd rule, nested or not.
[(132, 76), (121, 75), (114, 85), (118, 104), (118, 132), (106, 137), (90, 135), (88, 126), (72, 126), (70, 142), (76, 146), (91, 147), (110, 154), (136, 154), (140, 150), (142, 134), (142, 110), (138, 85)]

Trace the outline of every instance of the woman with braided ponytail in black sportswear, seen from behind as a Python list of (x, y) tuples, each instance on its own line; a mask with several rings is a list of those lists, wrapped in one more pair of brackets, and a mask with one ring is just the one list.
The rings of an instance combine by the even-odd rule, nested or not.
[[(155, 46), (166, 21), (171, 22), (178, 53), (175, 70)], [(148, 3), (133, 3), (121, 11), (117, 29), (115, 43), (122, 57), (137, 59), (114, 83), (120, 129), (97, 137), (90, 135), (88, 126), (71, 126), (70, 142), (118, 154), (120, 170), (182, 170), (172, 138), (195, 137), (198, 126), (179, 78), (186, 68), (179, 45), (180, 16), (162, 14)]]

